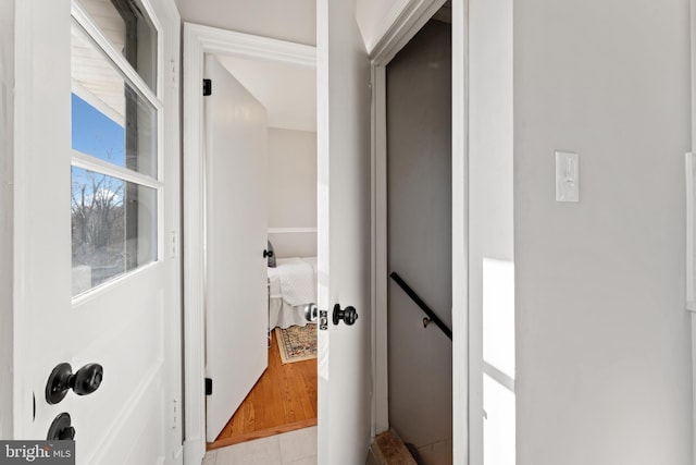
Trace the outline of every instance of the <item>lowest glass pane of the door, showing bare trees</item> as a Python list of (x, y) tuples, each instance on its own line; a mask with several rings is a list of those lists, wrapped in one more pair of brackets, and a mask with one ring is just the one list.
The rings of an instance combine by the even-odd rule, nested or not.
[(72, 168), (73, 295), (157, 260), (157, 191)]

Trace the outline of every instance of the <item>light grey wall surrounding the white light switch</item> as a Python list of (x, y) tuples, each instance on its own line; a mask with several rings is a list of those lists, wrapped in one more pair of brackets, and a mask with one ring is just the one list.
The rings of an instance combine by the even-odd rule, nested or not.
[[(514, 7), (520, 465), (686, 465), (688, 0)], [(555, 201), (554, 150), (580, 154)]]

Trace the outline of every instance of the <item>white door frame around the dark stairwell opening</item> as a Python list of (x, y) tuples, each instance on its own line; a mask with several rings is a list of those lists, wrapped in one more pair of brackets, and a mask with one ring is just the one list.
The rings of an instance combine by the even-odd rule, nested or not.
[[(411, 0), (372, 51), (373, 433), (389, 427), (386, 66), (445, 0)], [(452, 448), (469, 463), (468, 1), (452, 1)]]

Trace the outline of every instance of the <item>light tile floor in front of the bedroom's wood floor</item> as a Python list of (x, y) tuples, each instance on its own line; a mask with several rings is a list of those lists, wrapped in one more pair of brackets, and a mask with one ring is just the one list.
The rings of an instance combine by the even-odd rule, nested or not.
[(210, 451), (202, 465), (316, 465), (316, 427)]

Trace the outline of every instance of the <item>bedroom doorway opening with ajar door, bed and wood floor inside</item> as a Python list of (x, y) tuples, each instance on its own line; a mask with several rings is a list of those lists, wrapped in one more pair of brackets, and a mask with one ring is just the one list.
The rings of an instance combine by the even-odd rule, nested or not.
[(316, 84), (307, 66), (220, 53), (206, 72), (206, 376), (229, 390), (207, 394), (214, 450), (316, 425), (316, 326), (304, 315), (316, 302)]

